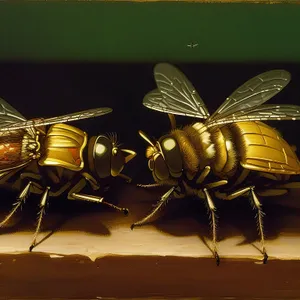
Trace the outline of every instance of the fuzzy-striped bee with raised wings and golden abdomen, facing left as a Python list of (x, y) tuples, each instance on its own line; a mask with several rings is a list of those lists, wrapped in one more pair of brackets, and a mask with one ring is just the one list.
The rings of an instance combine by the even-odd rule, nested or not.
[[(288, 182), (291, 175), (300, 174), (295, 148), (276, 129), (262, 122), (300, 119), (300, 106), (263, 104), (289, 83), (289, 72), (272, 70), (248, 80), (212, 115), (192, 83), (174, 66), (156, 65), (154, 78), (157, 89), (144, 97), (143, 104), (149, 109), (167, 113), (172, 130), (158, 140), (139, 131), (149, 144), (146, 157), (155, 180), (154, 184), (139, 186), (165, 185), (170, 189), (151, 213), (132, 224), (131, 228), (150, 222), (170, 199), (199, 197), (208, 207), (211, 250), (219, 264), (213, 199), (248, 197), (256, 210), (261, 252), (266, 263), (264, 212), (259, 196), (284, 195), (290, 188), (300, 187), (297, 182)], [(176, 128), (175, 115), (204, 121)]]

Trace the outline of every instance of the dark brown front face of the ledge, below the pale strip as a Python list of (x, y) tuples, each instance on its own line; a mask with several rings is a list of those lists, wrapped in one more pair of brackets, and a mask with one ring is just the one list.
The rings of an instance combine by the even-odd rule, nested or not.
[(0, 296), (9, 298), (300, 296), (300, 278), (295, 276), (300, 261), (258, 265), (230, 259), (217, 267), (205, 258), (107, 256), (91, 262), (81, 256), (50, 259), (37, 253), (17, 258), (0, 255), (0, 261), (5, 274)]

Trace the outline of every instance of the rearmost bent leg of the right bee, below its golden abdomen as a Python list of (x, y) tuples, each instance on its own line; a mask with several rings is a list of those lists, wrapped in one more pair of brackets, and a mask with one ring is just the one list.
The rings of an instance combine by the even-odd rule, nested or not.
[[(261, 252), (264, 256), (263, 263), (267, 263), (268, 260), (268, 254), (266, 252), (265, 248), (265, 235), (264, 235), (264, 226), (263, 226), (263, 216), (264, 212), (262, 210), (262, 204), (260, 203), (259, 199), (256, 196), (256, 193), (254, 192), (254, 186), (242, 188), (230, 195), (225, 195), (225, 194), (219, 194), (221, 199), (224, 200), (232, 200), (235, 199), (239, 196), (242, 196), (244, 194), (248, 194), (249, 198), (251, 200), (251, 203), (253, 204), (253, 207), (256, 209), (256, 218), (257, 218), (257, 224), (258, 224), (258, 232), (260, 235), (260, 242), (261, 242)], [(218, 194), (216, 194), (218, 195)]]

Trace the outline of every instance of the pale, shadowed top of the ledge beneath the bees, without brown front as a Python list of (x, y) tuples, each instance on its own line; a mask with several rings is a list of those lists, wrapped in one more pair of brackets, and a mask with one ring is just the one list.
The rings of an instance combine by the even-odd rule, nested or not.
[[(156, 221), (131, 230), (130, 225), (151, 210), (162, 191), (150, 192), (126, 186), (116, 193), (118, 195), (111, 195), (106, 200), (127, 207), (130, 214), (126, 217), (119, 212), (103, 210), (101, 205), (67, 200), (60, 204), (65, 206), (64, 211), (68, 209), (65, 216), (59, 211), (61, 208), (53, 211), (60, 201), (49, 200), (52, 210), (47, 210), (43, 220), (44, 232), (39, 236), (39, 240), (43, 241), (34, 251), (83, 255), (92, 261), (108, 254), (191, 258), (212, 256), (209, 219), (201, 200), (170, 201)], [(295, 193), (289, 197), (265, 199), (263, 202), (266, 247), (270, 258), (300, 259), (298, 197)], [(5, 216), (9, 202), (6, 203), (7, 208), (1, 208), (0, 219)], [(20, 211), (19, 222), (12, 228), (1, 229), (0, 253), (28, 251), (36, 225), (37, 204), (33, 200), (27, 201), (24, 210)], [(248, 257), (261, 260), (255, 212), (247, 199), (225, 203), (215, 201), (215, 205), (221, 259)], [(55, 228), (56, 231), (51, 234)]]

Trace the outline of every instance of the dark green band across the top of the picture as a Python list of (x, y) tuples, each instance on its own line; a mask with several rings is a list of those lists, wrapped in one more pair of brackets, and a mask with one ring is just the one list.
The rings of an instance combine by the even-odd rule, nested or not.
[(0, 39), (0, 60), (299, 62), (300, 6), (1, 3)]

